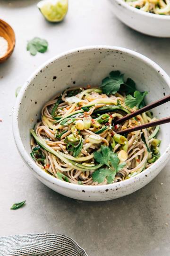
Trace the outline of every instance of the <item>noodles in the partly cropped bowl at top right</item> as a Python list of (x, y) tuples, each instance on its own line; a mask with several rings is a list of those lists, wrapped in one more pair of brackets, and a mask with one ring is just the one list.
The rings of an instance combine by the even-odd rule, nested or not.
[(170, 15), (170, 0), (125, 0), (137, 9), (161, 15)]

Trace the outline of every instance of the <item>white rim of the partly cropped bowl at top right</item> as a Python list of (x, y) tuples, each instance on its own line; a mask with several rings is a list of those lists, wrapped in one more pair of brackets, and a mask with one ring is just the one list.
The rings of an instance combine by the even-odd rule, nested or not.
[(114, 1), (117, 1), (119, 5), (122, 5), (124, 8), (129, 9), (136, 14), (141, 14), (141, 15), (151, 17), (151, 18), (156, 18), (156, 19), (167, 19), (167, 20), (170, 19), (170, 15), (155, 14), (155, 13), (145, 12), (140, 9), (136, 9), (133, 6), (128, 5), (127, 2), (125, 2), (124, 0), (114, 0)]

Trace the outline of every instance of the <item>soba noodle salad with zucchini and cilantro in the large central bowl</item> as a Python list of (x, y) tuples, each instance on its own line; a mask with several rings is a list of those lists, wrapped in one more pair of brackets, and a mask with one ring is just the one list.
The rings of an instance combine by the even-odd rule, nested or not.
[(118, 131), (154, 121), (152, 112), (122, 124), (114, 121), (144, 106), (147, 92), (111, 71), (100, 87), (67, 88), (42, 108), (31, 129), (31, 156), (45, 172), (79, 185), (105, 185), (129, 179), (159, 157), (159, 126)]

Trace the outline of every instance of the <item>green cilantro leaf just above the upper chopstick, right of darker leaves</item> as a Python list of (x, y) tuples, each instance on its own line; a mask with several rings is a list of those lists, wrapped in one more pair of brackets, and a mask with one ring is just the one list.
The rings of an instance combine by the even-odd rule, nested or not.
[(147, 91), (140, 92), (140, 91), (135, 91), (134, 96), (132, 95), (127, 95), (125, 99), (125, 105), (133, 108), (136, 106), (137, 108), (141, 108), (144, 106), (144, 97), (148, 94)]

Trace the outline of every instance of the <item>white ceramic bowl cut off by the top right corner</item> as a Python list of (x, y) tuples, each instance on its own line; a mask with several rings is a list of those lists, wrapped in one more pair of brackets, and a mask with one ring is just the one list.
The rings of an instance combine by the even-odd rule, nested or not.
[(109, 1), (114, 14), (127, 26), (146, 35), (170, 37), (170, 16), (141, 11), (124, 0)]

